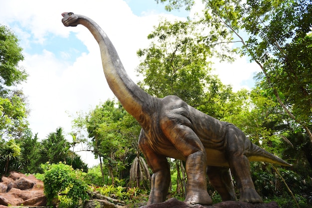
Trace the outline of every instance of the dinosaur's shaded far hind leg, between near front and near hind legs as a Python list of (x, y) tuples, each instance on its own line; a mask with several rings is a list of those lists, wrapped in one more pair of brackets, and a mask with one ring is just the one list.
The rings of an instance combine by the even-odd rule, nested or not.
[(207, 175), (212, 187), (219, 193), (222, 201), (235, 201), (235, 191), (229, 168), (208, 166)]

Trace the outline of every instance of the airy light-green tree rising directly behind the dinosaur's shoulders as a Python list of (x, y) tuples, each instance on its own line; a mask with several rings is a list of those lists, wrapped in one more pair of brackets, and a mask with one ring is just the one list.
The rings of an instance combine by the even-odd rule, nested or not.
[(202, 47), (195, 26), (164, 20), (148, 35), (151, 46), (137, 52), (143, 60), (137, 71), (144, 76), (139, 85), (147, 93), (158, 98), (176, 95), (193, 106), (203, 103), (211, 54)]

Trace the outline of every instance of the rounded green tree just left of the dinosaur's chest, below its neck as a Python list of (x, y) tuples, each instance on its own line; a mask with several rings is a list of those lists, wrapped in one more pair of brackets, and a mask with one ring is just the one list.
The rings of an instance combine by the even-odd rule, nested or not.
[(103, 180), (102, 162), (114, 184), (115, 176), (128, 166), (130, 155), (135, 155), (132, 144), (137, 142), (140, 126), (121, 104), (107, 100), (89, 112), (86, 127), (94, 154), (100, 158)]

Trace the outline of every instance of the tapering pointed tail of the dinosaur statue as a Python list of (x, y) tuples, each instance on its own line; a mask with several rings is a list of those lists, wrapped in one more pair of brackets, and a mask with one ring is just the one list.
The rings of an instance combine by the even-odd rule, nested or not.
[(262, 162), (268, 162), (268, 163), (273, 163), (273, 164), (282, 165), (282, 166), (293, 166), (289, 164), (288, 162), (271, 154), (270, 152), (267, 152), (266, 150), (260, 148), (259, 146), (251, 142), (250, 142), (249, 147), (250, 147), (248, 148), (249, 150), (246, 152), (246, 156), (249, 161), (262, 161)]

